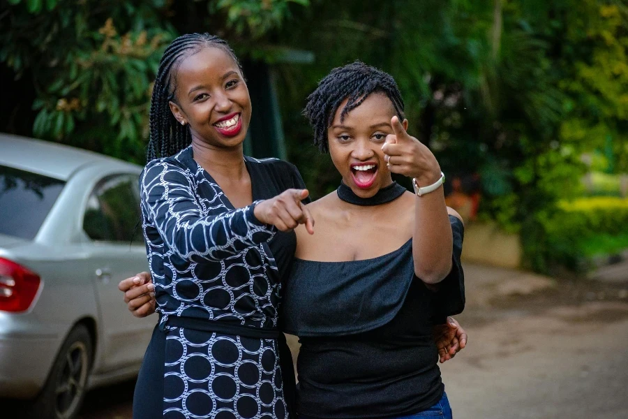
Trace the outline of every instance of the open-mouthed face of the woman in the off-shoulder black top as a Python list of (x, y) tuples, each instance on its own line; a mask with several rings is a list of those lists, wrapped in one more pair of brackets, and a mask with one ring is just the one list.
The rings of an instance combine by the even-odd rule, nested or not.
[[(374, 93), (350, 110), (341, 122), (347, 100), (338, 106), (334, 121), (327, 128), (329, 154), (343, 182), (357, 196), (369, 198), (392, 183), (382, 145), (386, 135), (394, 134), (390, 120), (397, 114), (388, 96)], [(403, 126), (408, 126), (407, 119)]]

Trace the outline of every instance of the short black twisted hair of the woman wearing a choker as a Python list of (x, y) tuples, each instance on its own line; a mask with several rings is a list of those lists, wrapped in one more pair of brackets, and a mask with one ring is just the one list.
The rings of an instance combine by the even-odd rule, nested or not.
[(394, 78), (375, 67), (355, 61), (346, 66), (334, 68), (325, 78), (320, 80), (318, 87), (308, 96), (303, 115), (314, 128), (314, 145), (321, 152), (329, 151), (327, 128), (334, 121), (334, 115), (340, 104), (349, 98), (341, 112), (341, 122), (352, 109), (357, 108), (373, 93), (383, 93), (392, 102), (395, 112), (401, 121), (403, 116), (403, 99)]

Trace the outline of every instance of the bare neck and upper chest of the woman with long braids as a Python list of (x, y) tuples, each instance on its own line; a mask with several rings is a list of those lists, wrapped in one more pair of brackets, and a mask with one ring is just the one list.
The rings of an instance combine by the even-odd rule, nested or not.
[(192, 151), (194, 160), (214, 178), (240, 179), (247, 173), (242, 144), (215, 147), (193, 138)]

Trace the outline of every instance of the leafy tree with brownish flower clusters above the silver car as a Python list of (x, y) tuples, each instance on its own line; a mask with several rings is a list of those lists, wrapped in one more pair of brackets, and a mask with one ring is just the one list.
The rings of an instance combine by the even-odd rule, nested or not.
[(193, 30), (253, 42), (281, 26), (290, 3), (307, 0), (9, 0), (0, 13), (0, 61), (16, 79), (32, 80), (34, 136), (141, 162), (152, 82), (179, 33), (173, 17), (204, 11)]

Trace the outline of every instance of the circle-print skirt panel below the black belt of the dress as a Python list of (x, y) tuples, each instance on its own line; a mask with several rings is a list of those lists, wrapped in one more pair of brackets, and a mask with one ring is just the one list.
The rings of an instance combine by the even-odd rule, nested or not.
[(167, 331), (164, 418), (285, 419), (274, 339)]

